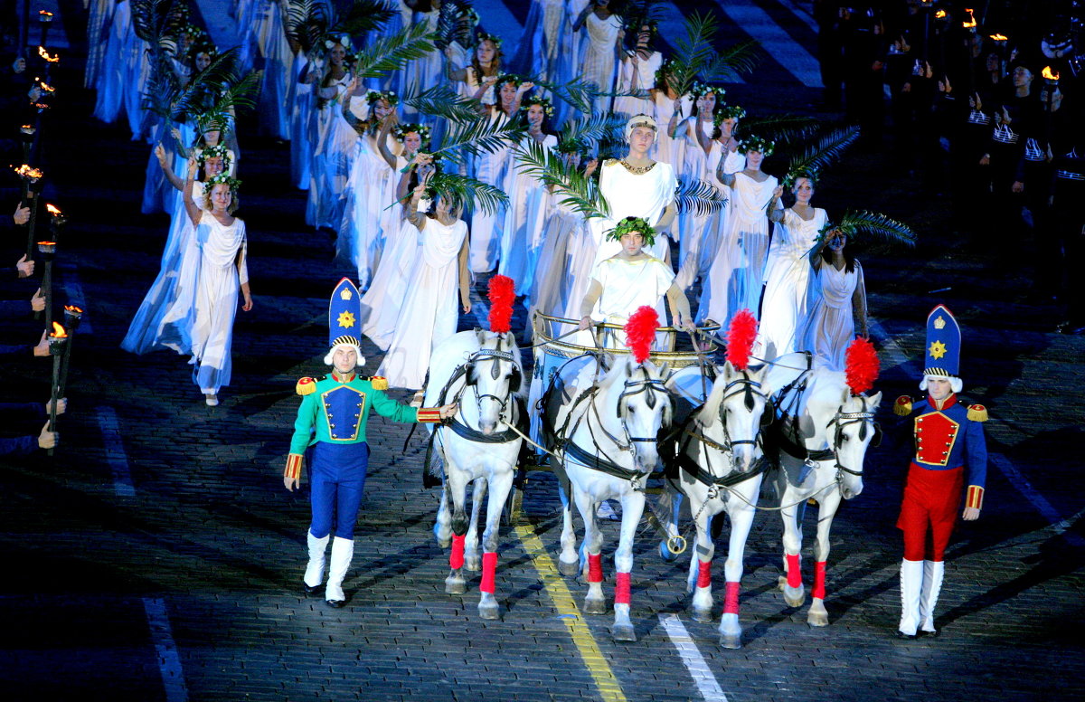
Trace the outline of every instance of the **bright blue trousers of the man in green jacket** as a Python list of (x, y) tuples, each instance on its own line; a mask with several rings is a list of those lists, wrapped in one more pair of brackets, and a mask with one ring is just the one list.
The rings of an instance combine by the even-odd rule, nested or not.
[(369, 444), (317, 442), (309, 449), (308, 458), (312, 500), (309, 532), (317, 538), (323, 538), (334, 525), (335, 536), (353, 539), (358, 506), (366, 487)]

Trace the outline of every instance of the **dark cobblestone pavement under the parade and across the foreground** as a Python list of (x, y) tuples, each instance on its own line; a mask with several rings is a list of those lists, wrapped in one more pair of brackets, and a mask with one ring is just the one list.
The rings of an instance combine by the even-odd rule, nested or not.
[[(81, 85), (75, 68), (55, 82)], [(752, 88), (735, 88), (739, 102), (743, 90)], [(446, 595), (447, 552), (430, 531), (438, 495), (421, 486), (423, 442), (416, 432), (403, 451), (407, 427), (381, 418), (370, 424), (374, 458), (345, 583), (350, 600), (329, 610), (302, 596), (308, 495), (304, 487), (286, 493), (280, 477), (298, 405), (293, 386), (301, 375), (324, 372), (327, 295), (350, 271), (329, 264), (327, 232), (304, 226), (304, 195), (284, 186), (286, 148), (243, 138), (239, 215), (248, 224), (256, 307), (239, 312), (234, 378), (222, 405), (204, 406), (183, 359), (117, 347), (156, 272), (166, 219), (137, 214), (146, 145), (85, 117), (88, 94), (69, 91), (77, 99), (48, 125), (47, 195), (72, 217), (59, 256), (60, 296), (85, 302), (90, 330), (76, 337), (72, 411), (56, 455), (0, 462), (0, 543), (9, 563), (0, 587), (4, 700), (1085, 695), (1085, 340), (1045, 333), (1056, 310), (1021, 302), (1027, 271), (994, 271), (982, 243), (946, 225), (945, 200), (888, 177), (879, 156), (853, 154), (818, 194), (830, 212), (882, 209), (921, 232), (916, 251), (863, 256), (881, 330), (879, 388), (886, 398), (916, 392), (922, 323), (934, 303), (945, 302), (963, 328), (965, 395), (993, 417), (986, 507), (980, 521), (959, 525), (950, 547), (942, 636), (892, 637), (901, 556), (894, 520), (908, 446), (888, 441), (871, 449), (866, 489), (834, 524), (829, 627), (808, 627), (805, 608), (783, 603), (776, 589), (781, 527), (764, 513), (746, 551), (743, 649), (719, 648), (715, 624), (691, 620), (685, 559), (662, 562), (651, 534), (638, 540), (633, 572), (639, 641), (614, 643), (610, 616), (556, 604), (561, 586), (539, 570), (531, 539), (513, 531), (501, 538), (501, 621), (478, 618), (477, 575), (468, 595)], [(786, 97), (782, 89), (775, 94)], [(246, 127), (242, 135), (254, 133)], [(952, 290), (928, 292), (943, 288)], [(522, 309), (516, 321), (524, 322)], [(461, 320), (463, 328), (475, 323)], [(18, 333), (35, 330), (27, 323)], [(362, 350), (375, 368), (376, 349), (367, 342)], [(5, 397), (43, 399), (47, 363), (0, 370)], [(531, 528), (522, 533), (536, 533), (554, 557), (552, 476), (533, 473), (523, 505)], [(814, 522), (810, 511), (808, 536)], [(612, 574), (616, 525), (604, 531), (604, 570)], [(809, 582), (812, 567), (804, 570)], [(717, 566), (717, 587), (720, 577)], [(577, 601), (586, 591), (575, 580), (565, 586)], [(666, 617), (678, 617), (688, 638), (672, 640), (674, 620), (665, 626)], [(574, 625), (591, 636), (574, 638)], [(703, 665), (688, 668), (684, 661), (694, 654)]]

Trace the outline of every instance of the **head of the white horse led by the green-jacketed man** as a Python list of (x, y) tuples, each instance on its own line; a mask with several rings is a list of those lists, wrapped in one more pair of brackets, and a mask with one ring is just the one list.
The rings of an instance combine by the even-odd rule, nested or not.
[(524, 394), (524, 370), (512, 334), (477, 330), (478, 348), (468, 357), (463, 398), (472, 398), (478, 410), (478, 430), (486, 435), (501, 422), (512, 422), (509, 404)]

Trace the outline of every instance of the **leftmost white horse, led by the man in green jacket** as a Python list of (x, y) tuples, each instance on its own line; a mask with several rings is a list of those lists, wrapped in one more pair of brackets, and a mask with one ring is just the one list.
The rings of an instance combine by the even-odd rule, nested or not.
[[(445, 470), (441, 508), (433, 529), (442, 547), (452, 545), (448, 559), (451, 572), (445, 579), (445, 591), (467, 591), (464, 564), (469, 571), (478, 570), (478, 512), (488, 487), (478, 585), (478, 615), (484, 620), (498, 616), (494, 598), (497, 536), (523, 441), (510, 429), (520, 420), (523, 374), (520, 349), (512, 334), (460, 332), (438, 345), (430, 359), (425, 406), (459, 404), (450, 423), (431, 430), (436, 434), (434, 455)], [(474, 483), (474, 489), (469, 524), (464, 503), (470, 483)]]

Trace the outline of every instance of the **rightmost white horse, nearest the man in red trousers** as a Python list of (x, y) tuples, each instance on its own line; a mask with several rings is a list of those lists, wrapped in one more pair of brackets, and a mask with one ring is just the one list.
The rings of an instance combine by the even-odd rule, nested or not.
[(875, 422), (881, 393), (852, 395), (844, 373), (817, 363), (810, 367), (808, 359), (803, 353), (781, 356), (774, 360), (766, 379), (777, 388), (778, 419), (773, 435), (780, 449), (777, 494), (782, 506), (786, 573), (780, 577), (780, 589), (790, 607), (803, 605), (800, 507), (814, 498), (818, 503), (817, 562), (806, 621), (810, 626), (828, 626), (825, 575), (829, 531), (840, 500), (863, 492), (863, 460), (881, 431)]

